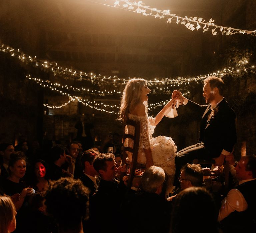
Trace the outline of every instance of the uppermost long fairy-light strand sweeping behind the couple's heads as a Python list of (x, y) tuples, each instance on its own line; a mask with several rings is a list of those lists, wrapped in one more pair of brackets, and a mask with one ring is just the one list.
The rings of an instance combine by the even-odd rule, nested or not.
[[(85, 72), (77, 72), (77, 71), (74, 71), (72, 69), (68, 69), (68, 68), (65, 68), (65, 67), (61, 67), (61, 66), (58, 66), (57, 63), (54, 63), (54, 62), (49, 62), (49, 61), (42, 61), (42, 60), (39, 60), (37, 59), (36, 57), (32, 58), (31, 56), (28, 56), (24, 53), (22, 53), (19, 49), (18, 50), (15, 50), (13, 48), (11, 48), (10, 46), (6, 46), (4, 44), (2, 44), (2, 46), (0, 46), (0, 51), (2, 52), (8, 52), (11, 54), (12, 57), (17, 57), (19, 60), (21, 60), (22, 62), (26, 62), (26, 63), (32, 63), (34, 64), (36, 67), (41, 67), (41, 68), (44, 68), (46, 70), (50, 70), (52, 72), (54, 72), (54, 75), (70, 75), (71, 77), (76, 77), (77, 79), (76, 80), (87, 80), (87, 81), (91, 81), (92, 83), (96, 84), (96, 85), (99, 85), (101, 86), (102, 85), (102, 82), (107, 82), (107, 83), (111, 83), (112, 87), (117, 87), (117, 84), (118, 85), (124, 85), (126, 82), (128, 82), (130, 80), (130, 77), (128, 79), (120, 79), (120, 78), (117, 78), (117, 77), (113, 77), (111, 78), (111, 76), (109, 76), (108, 78), (106, 78), (105, 76), (101, 76), (101, 75), (93, 75), (92, 73), (88, 74), (88, 73), (85, 73)], [(229, 68), (225, 68), (223, 70), (219, 70), (217, 72), (213, 72), (213, 73), (210, 73), (210, 74), (207, 74), (207, 75), (199, 75), (199, 76), (193, 76), (193, 77), (186, 77), (186, 78), (183, 78), (183, 77), (178, 77), (178, 78), (165, 78), (165, 79), (157, 79), (155, 78), (154, 80), (149, 80), (149, 85), (152, 86), (152, 85), (161, 85), (161, 84), (165, 84), (167, 83), (168, 85), (180, 85), (182, 83), (185, 83), (186, 82), (190, 82), (190, 81), (197, 81), (197, 80), (202, 80), (202, 79), (205, 79), (209, 76), (224, 76), (224, 75), (232, 75), (234, 73), (237, 73), (237, 68), (238, 66), (244, 66), (245, 64), (248, 64), (248, 61), (245, 61), (245, 62), (241, 62), (241, 63), (238, 63), (236, 64), (235, 67), (229, 67)], [(250, 68), (253, 68), (253, 67), (247, 67), (245, 69), (250, 69)], [(241, 69), (244, 69), (244, 68), (241, 68)], [(58, 71), (58, 72), (56, 72)], [(84, 79), (82, 78), (82, 76), (86, 76), (87, 78)], [(74, 91), (77, 90), (77, 91), (80, 91), (79, 88), (74, 88), (72, 86), (68, 87), (66, 86), (66, 88), (71, 88), (73, 89)], [(86, 90), (89, 90), (88, 88), (85, 88), (83, 87), (82, 88), (83, 91), (86, 91)], [(89, 91), (88, 91), (89, 92)], [(111, 91), (99, 91), (99, 90), (94, 90), (92, 91), (92, 93), (97, 93), (97, 94), (113, 94), (117, 91), (113, 90), (112, 93)], [(120, 94), (120, 93), (119, 93)]]

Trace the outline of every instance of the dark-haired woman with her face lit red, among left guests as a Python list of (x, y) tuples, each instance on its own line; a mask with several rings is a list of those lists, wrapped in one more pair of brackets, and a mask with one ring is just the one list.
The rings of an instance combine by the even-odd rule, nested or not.
[(32, 187), (35, 191), (42, 192), (45, 191), (48, 187), (48, 179), (46, 173), (46, 163), (44, 160), (38, 159), (35, 161), (33, 166), (34, 180)]

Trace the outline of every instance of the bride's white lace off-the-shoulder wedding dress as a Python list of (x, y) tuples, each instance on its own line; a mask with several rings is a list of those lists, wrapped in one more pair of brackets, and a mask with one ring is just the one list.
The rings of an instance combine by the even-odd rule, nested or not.
[[(144, 149), (151, 149), (152, 158), (155, 166), (161, 167), (168, 175), (167, 192), (171, 191), (175, 175), (175, 155), (177, 147), (170, 137), (158, 136), (152, 137), (154, 133), (155, 118), (152, 116), (136, 116), (128, 114), (129, 119), (140, 121), (140, 141), (137, 163), (146, 164), (146, 155)], [(129, 125), (125, 128), (125, 133), (134, 135), (134, 127)], [(133, 140), (127, 138), (124, 146), (133, 147)], [(132, 160), (132, 154), (128, 153), (128, 158)]]

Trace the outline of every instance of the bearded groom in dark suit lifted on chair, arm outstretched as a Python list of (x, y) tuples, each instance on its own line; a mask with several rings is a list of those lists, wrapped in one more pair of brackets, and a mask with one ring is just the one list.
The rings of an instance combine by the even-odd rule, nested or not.
[(232, 152), (236, 143), (236, 115), (222, 96), (223, 89), (224, 82), (220, 78), (211, 76), (204, 80), (203, 97), (208, 105), (196, 104), (184, 98), (178, 90), (173, 92), (173, 98), (201, 116), (198, 143), (177, 152), (174, 186), (179, 186), (180, 168), (187, 162), (194, 158), (214, 158), (215, 165), (221, 166), (225, 156)]

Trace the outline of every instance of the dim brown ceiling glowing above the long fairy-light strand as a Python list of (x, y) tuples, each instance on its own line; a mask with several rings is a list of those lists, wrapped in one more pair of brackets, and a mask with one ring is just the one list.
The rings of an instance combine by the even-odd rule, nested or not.
[[(97, 2), (3, 1), (1, 19), (10, 30), (15, 28), (15, 38), (6, 36), (6, 43), (67, 67), (106, 75), (118, 71), (120, 77), (170, 77), (211, 71), (209, 65), (220, 36), (202, 30), (192, 32), (184, 25), (167, 24), (166, 19), (103, 5), (113, 6), (114, 1)], [(222, 25), (221, 0), (144, 2), (181, 17), (212, 18)]]

